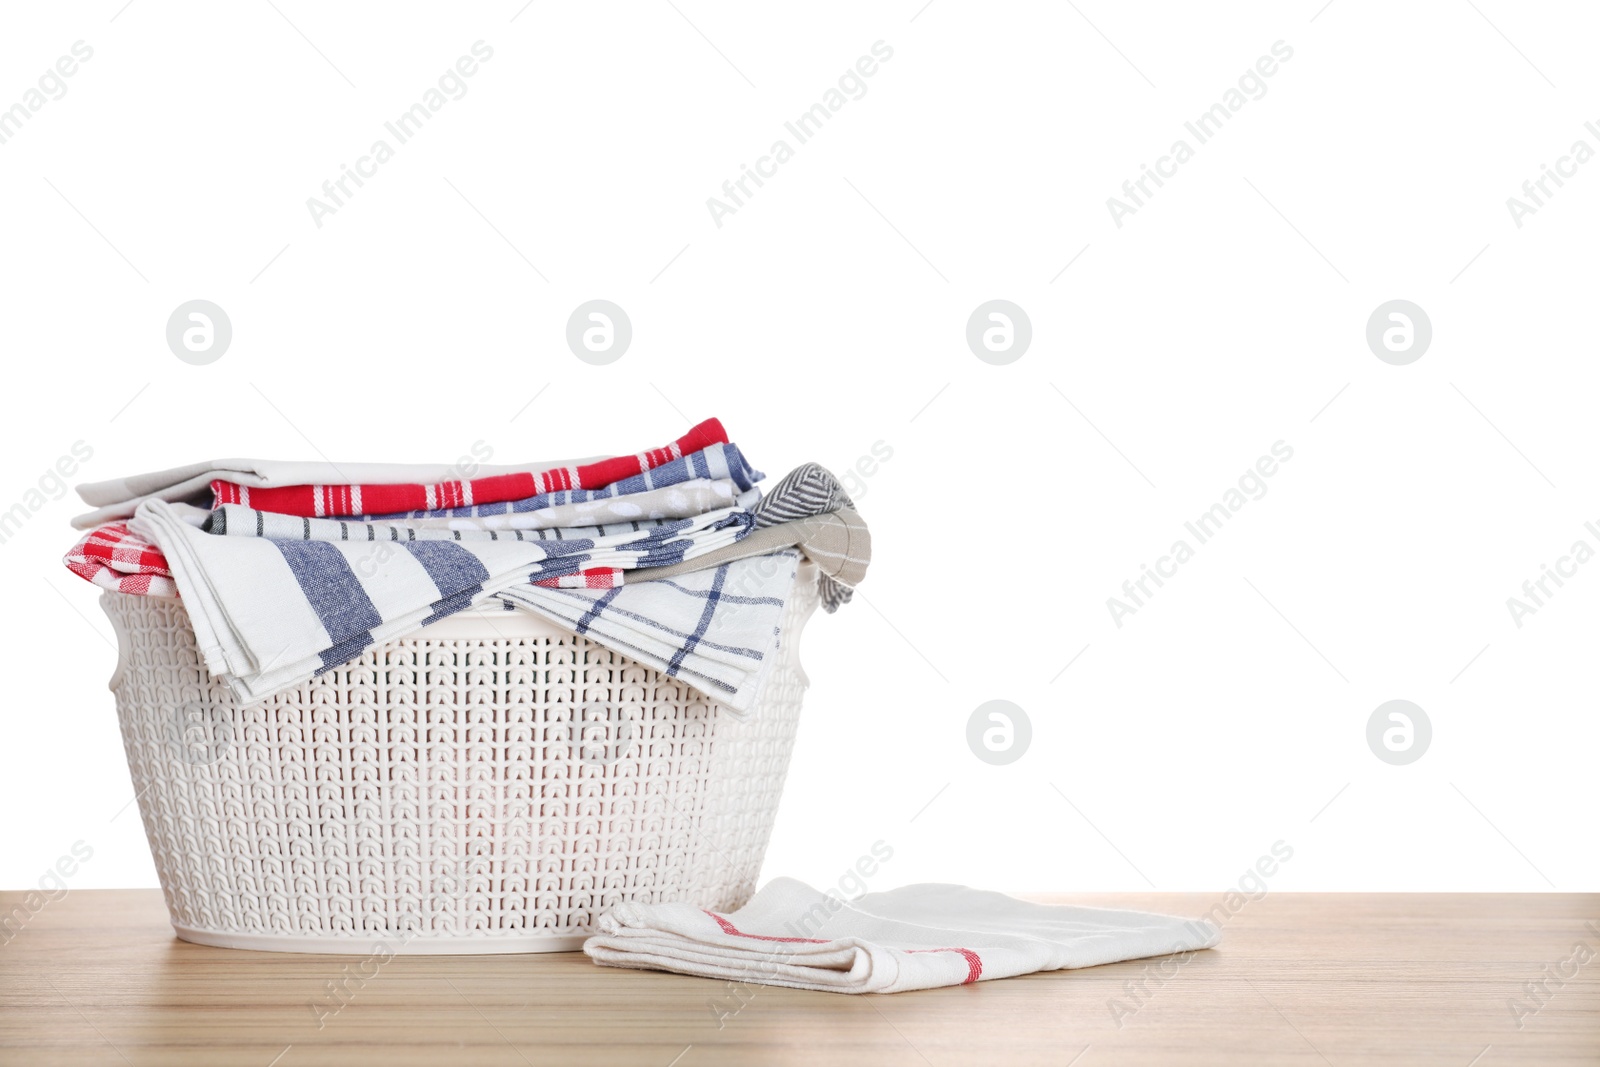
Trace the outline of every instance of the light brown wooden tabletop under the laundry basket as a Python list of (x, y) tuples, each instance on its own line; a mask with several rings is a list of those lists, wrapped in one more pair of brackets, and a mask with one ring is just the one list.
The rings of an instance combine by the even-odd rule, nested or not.
[[(0, 894), (0, 917), (21, 901)], [(1579, 942), (1595, 958), (1571, 976)], [(190, 945), (154, 889), (75, 889), (0, 944), (0, 1064), (1600, 1064), (1600, 894), (1274, 893), (1166, 979), (1141, 961), (891, 997), (752, 987), (742, 1006), (581, 953), (400, 957), (318, 1027), (355, 960)]]

